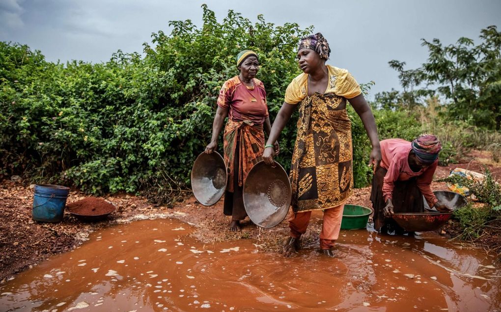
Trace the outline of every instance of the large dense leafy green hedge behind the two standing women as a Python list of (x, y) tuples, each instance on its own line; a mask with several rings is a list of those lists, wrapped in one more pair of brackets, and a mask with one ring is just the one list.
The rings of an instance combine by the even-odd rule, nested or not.
[[(210, 140), (219, 88), (237, 74), (235, 55), (244, 48), (260, 55), (259, 78), (273, 120), (300, 72), (298, 39), (313, 29), (274, 25), (261, 15), (252, 23), (231, 10), (217, 22), (214, 12), (202, 8), (201, 28), (171, 21), (171, 34), (153, 33), (144, 56), (119, 50), (105, 63), (52, 63), (26, 45), (0, 42), (0, 178), (21, 174), (93, 194), (151, 187), (169, 194), (187, 186), (191, 165)], [(382, 138), (402, 130), (406, 138), (418, 134), (415, 119), (378, 114)], [(368, 183), (370, 144), (353, 109), (350, 116), (360, 187)], [(287, 168), (295, 137), (291, 121), (278, 158)]]

